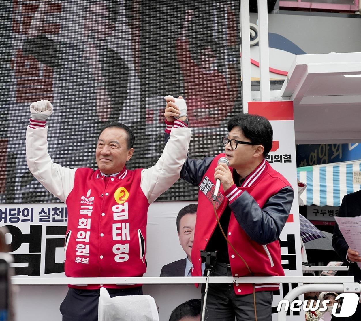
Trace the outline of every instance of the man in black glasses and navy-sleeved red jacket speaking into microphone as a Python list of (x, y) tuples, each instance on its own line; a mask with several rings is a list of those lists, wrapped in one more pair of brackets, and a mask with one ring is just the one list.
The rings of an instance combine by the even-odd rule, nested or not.
[[(217, 252), (211, 276), (283, 276), (278, 237), (290, 214), (290, 183), (265, 160), (273, 130), (264, 117), (240, 114), (228, 122), (225, 153), (204, 160), (187, 159), (181, 178), (199, 186), (192, 247), (192, 276), (201, 276), (200, 250)], [(168, 137), (166, 137), (168, 139)], [(226, 157), (229, 165), (219, 162)], [(216, 180), (222, 182), (213, 206)], [(215, 211), (219, 218), (218, 225)], [(269, 321), (277, 284), (210, 284), (208, 321)], [(204, 285), (202, 298), (204, 298)], [(203, 303), (203, 300), (202, 300)]]

